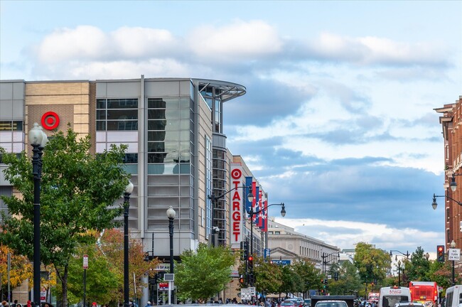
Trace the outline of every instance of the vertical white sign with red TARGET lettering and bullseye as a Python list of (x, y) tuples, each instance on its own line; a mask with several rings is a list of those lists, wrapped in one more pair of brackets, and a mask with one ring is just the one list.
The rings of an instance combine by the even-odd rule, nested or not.
[(242, 166), (240, 163), (231, 163), (231, 247), (239, 248), (242, 241)]

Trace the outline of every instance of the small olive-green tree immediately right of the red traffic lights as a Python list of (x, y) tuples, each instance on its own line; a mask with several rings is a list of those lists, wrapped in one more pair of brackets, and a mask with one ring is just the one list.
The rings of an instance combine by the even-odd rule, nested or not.
[(281, 268), (265, 262), (263, 257), (254, 257), (255, 287), (262, 293), (276, 293), (281, 286)]

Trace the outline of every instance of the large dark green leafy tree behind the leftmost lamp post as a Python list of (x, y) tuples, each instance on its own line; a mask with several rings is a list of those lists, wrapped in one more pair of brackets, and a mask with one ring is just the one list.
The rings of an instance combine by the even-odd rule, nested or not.
[[(102, 231), (117, 225), (121, 205), (114, 206), (124, 193), (129, 174), (122, 161), (127, 146), (111, 146), (109, 151), (90, 154), (90, 136), (80, 137), (72, 129), (58, 131), (45, 146), (41, 181), (41, 262), (53, 264), (63, 289), (63, 306), (68, 306), (68, 269), (72, 254), (81, 244), (95, 242), (87, 230)], [(3, 154), (5, 178), (18, 190), (1, 196), (9, 208), (0, 242), (16, 254), (33, 259), (33, 174), (23, 152)]]

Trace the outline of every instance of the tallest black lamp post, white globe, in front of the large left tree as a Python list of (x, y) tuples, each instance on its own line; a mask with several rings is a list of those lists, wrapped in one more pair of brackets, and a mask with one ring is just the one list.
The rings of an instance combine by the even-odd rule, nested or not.
[(29, 142), (32, 145), (33, 166), (33, 303), (40, 306), (40, 183), (41, 183), (41, 156), (46, 145), (47, 136), (41, 126), (33, 124), (29, 131)]

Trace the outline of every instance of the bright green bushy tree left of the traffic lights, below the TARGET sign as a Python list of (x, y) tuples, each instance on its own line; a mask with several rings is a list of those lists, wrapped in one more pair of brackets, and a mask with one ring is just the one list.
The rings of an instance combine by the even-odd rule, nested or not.
[(231, 280), (235, 254), (230, 247), (209, 247), (200, 243), (196, 251), (186, 250), (175, 264), (175, 284), (181, 299), (207, 301)]

